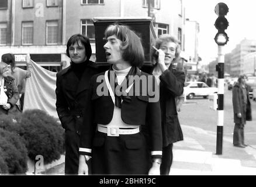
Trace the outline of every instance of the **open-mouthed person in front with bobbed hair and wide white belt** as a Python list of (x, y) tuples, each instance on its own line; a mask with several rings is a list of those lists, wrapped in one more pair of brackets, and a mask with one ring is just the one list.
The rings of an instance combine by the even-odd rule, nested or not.
[[(161, 112), (158, 98), (151, 98), (154, 77), (139, 69), (144, 63), (141, 41), (118, 23), (107, 27), (105, 38), (111, 68), (91, 79), (91, 104), (85, 110), (79, 148), (79, 174), (88, 174), (85, 161), (91, 159), (92, 174), (159, 175)], [(140, 78), (147, 82), (141, 83)], [(98, 89), (101, 85), (106, 85), (105, 94)], [(148, 139), (142, 128), (148, 129)]]

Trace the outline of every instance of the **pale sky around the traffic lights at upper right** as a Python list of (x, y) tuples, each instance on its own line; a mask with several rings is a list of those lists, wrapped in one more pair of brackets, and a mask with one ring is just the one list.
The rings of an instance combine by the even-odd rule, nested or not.
[(229, 22), (226, 33), (228, 43), (224, 46), (224, 54), (230, 53), (244, 38), (256, 39), (256, 1), (255, 0), (184, 0), (185, 16), (199, 23), (199, 57), (202, 64), (209, 64), (217, 57), (214, 24), (217, 19), (215, 6), (224, 2), (229, 7), (226, 19)]

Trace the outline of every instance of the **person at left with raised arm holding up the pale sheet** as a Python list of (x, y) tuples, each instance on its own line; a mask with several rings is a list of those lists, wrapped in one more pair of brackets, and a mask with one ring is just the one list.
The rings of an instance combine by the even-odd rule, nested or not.
[(2, 62), (11, 65), (11, 71), (9, 71), (9, 76), (15, 79), (15, 84), (18, 87), (19, 91), (19, 100), (16, 103), (16, 107), (13, 107), (13, 111), (19, 110), (22, 112), (23, 103), (24, 103), (24, 94), (26, 89), (26, 79), (31, 77), (31, 65), (30, 65), (30, 57), (26, 56), (26, 64), (27, 70), (23, 70), (22, 68), (16, 67), (15, 56), (12, 53), (6, 53), (2, 55)]

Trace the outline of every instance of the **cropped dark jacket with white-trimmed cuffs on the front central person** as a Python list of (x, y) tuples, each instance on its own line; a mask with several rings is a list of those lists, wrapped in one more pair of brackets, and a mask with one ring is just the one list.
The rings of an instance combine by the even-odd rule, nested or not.
[[(80, 147), (82, 148), (91, 148), (92, 140), (94, 138), (96, 124), (108, 124), (113, 117), (113, 111), (115, 105), (112, 101), (110, 93), (108, 91), (108, 95), (99, 96), (96, 93), (96, 90), (99, 85), (103, 85), (106, 88), (105, 79), (102, 79), (101, 82), (96, 82), (96, 79), (99, 76), (104, 76), (105, 72), (101, 74), (95, 75), (91, 79), (90, 83), (90, 94), (89, 101), (91, 102), (88, 107), (85, 108), (85, 117), (84, 124), (81, 128), (81, 141)], [(137, 68), (137, 75), (139, 77), (145, 76), (148, 81), (148, 75), (145, 72), (142, 72)], [(134, 82), (134, 85), (139, 84), (139, 79)], [(154, 82), (154, 81), (153, 81)], [(135, 87), (130, 89), (130, 92), (133, 90), (135, 93)], [(136, 93), (136, 95), (130, 96), (130, 102), (123, 101), (122, 109), (121, 109), (121, 117), (124, 123), (127, 124), (136, 124), (144, 126), (146, 124), (146, 120), (150, 121), (148, 123), (148, 130), (150, 131), (151, 139), (150, 139), (150, 147), (152, 151), (161, 151), (162, 150), (162, 136), (161, 136), (161, 113), (160, 113), (160, 103), (157, 99), (156, 102), (150, 102), (150, 99), (153, 98), (153, 93), (150, 92), (152, 84), (147, 86), (146, 95), (143, 96), (140, 93)], [(154, 89), (153, 89), (154, 90)], [(142, 85), (140, 84), (140, 91), (142, 91)], [(129, 93), (130, 93), (129, 92)], [(86, 154), (81, 152), (81, 154)]]

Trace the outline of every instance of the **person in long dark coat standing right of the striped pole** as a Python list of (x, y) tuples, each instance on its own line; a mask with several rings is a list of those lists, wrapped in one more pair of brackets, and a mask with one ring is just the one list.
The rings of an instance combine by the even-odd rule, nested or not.
[(244, 143), (244, 125), (246, 121), (252, 120), (251, 116), (251, 102), (249, 98), (248, 89), (246, 86), (245, 75), (240, 75), (238, 82), (234, 85), (232, 90), (232, 102), (234, 110), (234, 133), (233, 145), (244, 148), (247, 144)]

